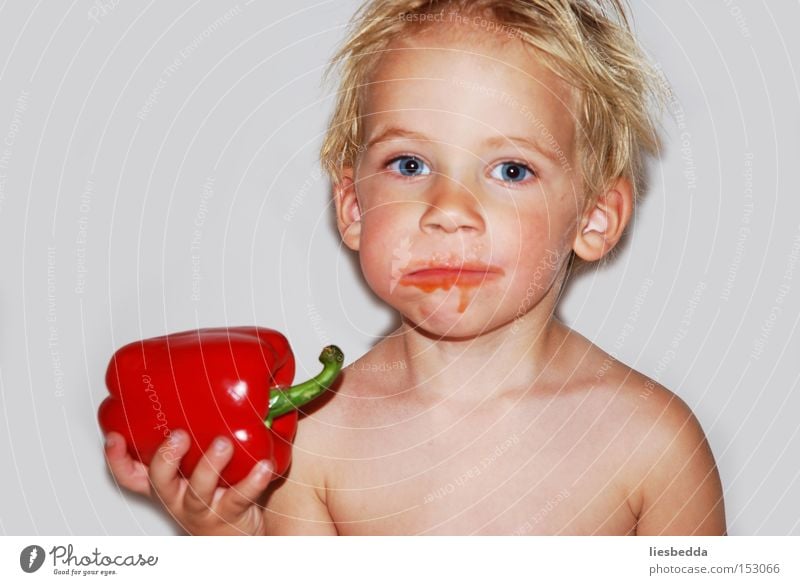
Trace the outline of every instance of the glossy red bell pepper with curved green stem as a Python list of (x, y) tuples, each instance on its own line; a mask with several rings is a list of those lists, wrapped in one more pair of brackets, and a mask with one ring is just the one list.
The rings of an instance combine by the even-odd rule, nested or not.
[(344, 355), (329, 345), (319, 360), (319, 375), (289, 387), (294, 356), (272, 329), (197, 329), (129, 343), (108, 365), (111, 395), (100, 405), (100, 427), (122, 434), (131, 456), (148, 465), (173, 429), (185, 429), (191, 446), (180, 471), (187, 477), (220, 435), (234, 446), (221, 484), (238, 483), (262, 459), (280, 476), (291, 461), (296, 409), (325, 392)]

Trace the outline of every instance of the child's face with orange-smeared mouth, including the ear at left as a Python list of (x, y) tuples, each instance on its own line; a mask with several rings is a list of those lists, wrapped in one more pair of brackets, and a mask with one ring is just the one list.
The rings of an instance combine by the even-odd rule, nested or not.
[[(535, 309), (568, 259), (582, 203), (572, 94), (532, 49), (485, 35), (392, 46), (411, 50), (389, 52), (372, 75), (366, 149), (337, 187), (340, 229), (369, 285), (438, 335)], [(412, 276), (426, 267), (455, 270)]]

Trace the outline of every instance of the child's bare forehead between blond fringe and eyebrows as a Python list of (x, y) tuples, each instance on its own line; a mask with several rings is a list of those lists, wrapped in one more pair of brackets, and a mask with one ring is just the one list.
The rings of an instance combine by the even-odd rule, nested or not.
[(452, 115), (480, 132), (525, 131), (572, 150), (572, 88), (535, 48), (478, 27), (445, 24), (396, 39), (371, 71), (363, 97), (367, 137), (387, 118), (412, 114), (425, 123)]

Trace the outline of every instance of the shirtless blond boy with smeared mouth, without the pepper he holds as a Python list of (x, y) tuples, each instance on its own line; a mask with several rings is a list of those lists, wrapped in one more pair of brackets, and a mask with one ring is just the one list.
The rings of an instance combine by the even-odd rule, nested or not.
[(400, 327), (302, 419), (285, 478), (188, 480), (186, 433), (119, 483), (193, 534), (725, 533), (689, 408), (559, 322), (628, 225), (657, 86), (616, 2), (376, 0), (335, 62), (339, 231)]

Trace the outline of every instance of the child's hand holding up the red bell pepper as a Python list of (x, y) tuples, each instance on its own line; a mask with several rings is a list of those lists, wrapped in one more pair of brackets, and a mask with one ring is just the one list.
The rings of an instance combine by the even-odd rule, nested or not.
[(224, 439), (224, 448), (217, 451), (212, 445), (187, 480), (178, 466), (189, 450), (189, 441), (186, 432), (173, 432), (148, 468), (128, 454), (122, 435), (111, 432), (106, 437), (106, 457), (119, 485), (161, 502), (189, 534), (264, 534), (263, 508), (256, 500), (272, 479), (272, 467), (267, 465), (261, 471), (255, 465), (235, 486), (217, 487), (220, 472), (233, 456), (230, 440)]

